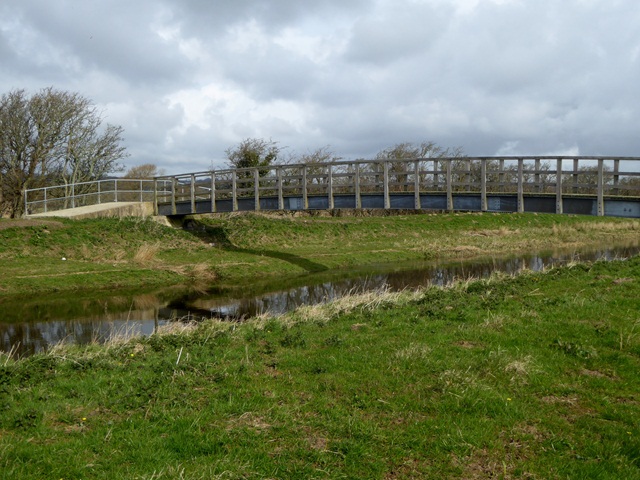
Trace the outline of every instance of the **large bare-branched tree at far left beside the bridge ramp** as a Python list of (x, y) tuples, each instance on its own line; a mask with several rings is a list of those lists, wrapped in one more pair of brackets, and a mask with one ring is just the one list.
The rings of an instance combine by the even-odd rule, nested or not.
[(24, 210), (27, 188), (101, 178), (127, 156), (122, 128), (106, 125), (90, 100), (45, 88), (29, 97), (14, 90), (0, 98), (0, 190), (12, 217)]

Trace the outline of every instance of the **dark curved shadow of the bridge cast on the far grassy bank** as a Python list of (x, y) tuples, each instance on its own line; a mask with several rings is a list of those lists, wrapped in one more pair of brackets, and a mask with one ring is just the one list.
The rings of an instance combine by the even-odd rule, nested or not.
[(286, 253), (277, 250), (263, 250), (257, 248), (242, 248), (234, 245), (229, 239), (227, 231), (223, 227), (215, 227), (211, 225), (205, 225), (195, 220), (189, 220), (183, 228), (191, 233), (193, 236), (199, 238), (205, 243), (215, 244), (216, 247), (230, 252), (246, 253), (248, 255), (255, 255), (258, 257), (270, 257), (282, 260), (284, 262), (291, 263), (297, 267), (302, 268), (307, 273), (319, 273), (328, 270), (328, 267), (321, 263), (316, 263), (298, 255)]

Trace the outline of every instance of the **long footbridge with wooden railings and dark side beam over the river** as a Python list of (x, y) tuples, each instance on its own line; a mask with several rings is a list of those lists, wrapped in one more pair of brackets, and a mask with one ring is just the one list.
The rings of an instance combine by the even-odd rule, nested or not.
[[(119, 198), (150, 201), (154, 213), (165, 216), (411, 209), (640, 218), (640, 157), (353, 160), (209, 170), (128, 182)], [(135, 182), (139, 191), (132, 188)], [(86, 204), (89, 197), (100, 194), (106, 195), (104, 189), (82, 194), (81, 202), (74, 197), (73, 203)], [(109, 195), (113, 199), (118, 194)], [(43, 206), (51, 211), (46, 197), (46, 189), (25, 192), (27, 211)], [(62, 202), (59, 196), (55, 201)]]

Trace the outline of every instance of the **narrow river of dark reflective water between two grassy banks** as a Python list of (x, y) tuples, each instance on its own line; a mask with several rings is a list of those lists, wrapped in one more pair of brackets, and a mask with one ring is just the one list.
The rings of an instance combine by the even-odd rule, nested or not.
[(151, 335), (175, 321), (223, 318), (241, 321), (257, 314), (281, 314), (301, 305), (327, 302), (368, 290), (415, 289), (494, 272), (540, 271), (568, 262), (611, 261), (640, 253), (638, 244), (585, 251), (483, 258), (463, 262), (376, 265), (354, 271), (310, 274), (278, 284), (243, 285), (202, 293), (166, 290), (104, 296), (51, 296), (0, 303), (0, 350), (28, 356), (59, 343), (104, 342), (118, 335)]

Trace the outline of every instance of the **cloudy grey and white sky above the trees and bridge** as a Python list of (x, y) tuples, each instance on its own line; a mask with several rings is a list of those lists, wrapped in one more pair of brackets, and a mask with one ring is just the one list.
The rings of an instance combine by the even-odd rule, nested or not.
[(0, 0), (0, 94), (80, 93), (132, 167), (246, 138), (640, 156), (638, 0)]

